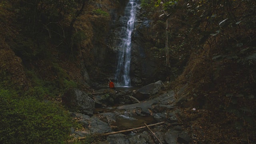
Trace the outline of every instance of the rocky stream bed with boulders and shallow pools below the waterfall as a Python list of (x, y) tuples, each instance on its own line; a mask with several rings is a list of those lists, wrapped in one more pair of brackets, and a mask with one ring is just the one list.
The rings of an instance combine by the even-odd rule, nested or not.
[[(90, 134), (104, 135), (98, 144), (188, 144), (192, 139), (178, 122), (181, 110), (176, 106), (174, 91), (163, 89), (164, 83), (158, 81), (126, 92), (100, 89), (86, 94), (69, 90), (62, 101), (76, 110), (70, 114), (85, 128), (71, 128), (71, 135), (74, 140)], [(139, 129), (129, 130), (134, 128)]]

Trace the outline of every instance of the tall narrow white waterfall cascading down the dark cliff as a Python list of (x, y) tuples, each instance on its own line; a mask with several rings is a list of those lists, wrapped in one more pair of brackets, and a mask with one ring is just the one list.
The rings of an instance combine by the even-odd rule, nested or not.
[(121, 42), (118, 46), (117, 66), (116, 66), (116, 84), (117, 86), (131, 86), (130, 80), (130, 61), (132, 48), (132, 31), (138, 8), (136, 0), (129, 0), (125, 8), (125, 14), (122, 20)]

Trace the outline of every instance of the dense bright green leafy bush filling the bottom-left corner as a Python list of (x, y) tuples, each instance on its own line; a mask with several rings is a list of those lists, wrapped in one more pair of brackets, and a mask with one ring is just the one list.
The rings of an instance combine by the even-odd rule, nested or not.
[(64, 143), (72, 126), (69, 113), (55, 102), (18, 98), (14, 92), (0, 90), (0, 142)]

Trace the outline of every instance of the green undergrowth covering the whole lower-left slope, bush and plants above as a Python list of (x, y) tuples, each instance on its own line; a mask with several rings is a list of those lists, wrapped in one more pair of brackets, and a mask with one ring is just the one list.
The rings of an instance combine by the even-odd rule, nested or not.
[(55, 68), (58, 80), (46, 80), (34, 70), (25, 70), (26, 89), (0, 70), (1, 144), (62, 144), (70, 138), (70, 127), (82, 129), (60, 102), (46, 102), (77, 88), (76, 82), (64, 78), (64, 70)]

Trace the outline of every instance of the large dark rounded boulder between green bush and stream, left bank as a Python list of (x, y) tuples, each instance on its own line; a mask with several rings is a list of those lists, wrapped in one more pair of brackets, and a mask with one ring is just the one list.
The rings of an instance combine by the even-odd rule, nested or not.
[(63, 104), (74, 111), (80, 111), (82, 114), (93, 115), (95, 102), (84, 91), (70, 89), (62, 96)]

